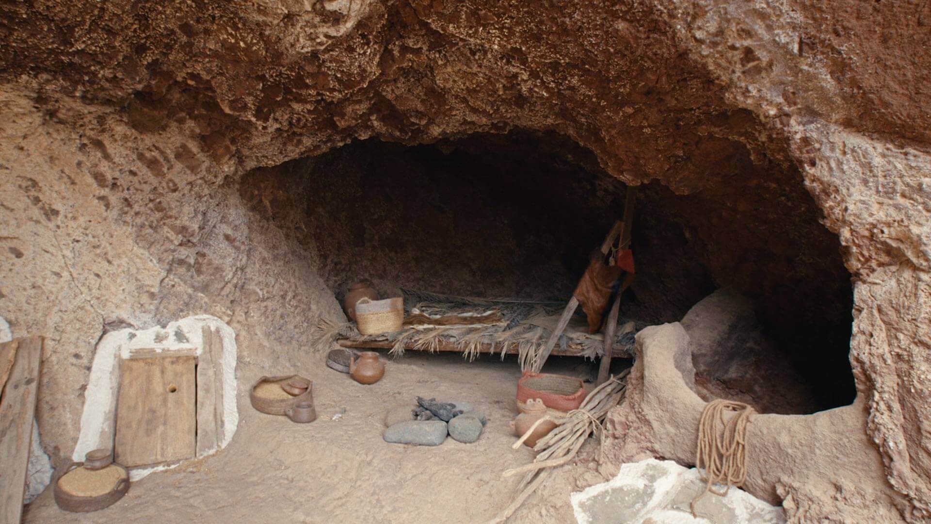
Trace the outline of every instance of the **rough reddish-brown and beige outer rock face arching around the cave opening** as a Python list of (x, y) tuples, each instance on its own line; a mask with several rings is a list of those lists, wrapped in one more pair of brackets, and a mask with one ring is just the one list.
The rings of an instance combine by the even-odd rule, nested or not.
[(341, 314), (317, 254), (239, 198), (253, 168), (351, 139), (520, 127), (571, 137), (627, 183), (690, 193), (723, 138), (797, 166), (840, 236), (865, 431), (901, 515), (929, 517), (929, 9), (4, 4), (0, 315), (49, 338), (46, 447), (61, 463), (74, 446), (109, 329), (209, 313), (236, 329), (241, 361), (268, 365), (300, 358), (308, 319)]

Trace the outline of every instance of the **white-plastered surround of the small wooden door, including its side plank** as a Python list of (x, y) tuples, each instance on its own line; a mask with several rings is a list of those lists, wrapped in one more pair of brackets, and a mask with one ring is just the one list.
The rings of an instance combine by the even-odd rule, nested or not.
[[(134, 358), (196, 358), (196, 458), (225, 448), (236, 433), (236, 333), (220, 319), (197, 315), (149, 329), (120, 329), (97, 344), (73, 460), (91, 449), (114, 448), (121, 361)], [(191, 457), (195, 458), (195, 457)], [(177, 465), (130, 470), (132, 479)]]

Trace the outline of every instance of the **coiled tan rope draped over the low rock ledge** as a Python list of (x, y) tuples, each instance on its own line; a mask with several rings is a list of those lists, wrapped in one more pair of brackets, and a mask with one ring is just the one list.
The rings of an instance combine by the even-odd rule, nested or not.
[[(735, 413), (729, 420), (724, 414)], [(695, 467), (705, 470), (705, 490), (692, 501), (695, 504), (708, 491), (723, 497), (731, 486), (740, 488), (747, 480), (747, 424), (756, 411), (749, 405), (732, 400), (715, 399), (701, 412), (698, 421), (698, 444), (695, 450)], [(715, 484), (724, 484), (724, 490), (715, 490)]]

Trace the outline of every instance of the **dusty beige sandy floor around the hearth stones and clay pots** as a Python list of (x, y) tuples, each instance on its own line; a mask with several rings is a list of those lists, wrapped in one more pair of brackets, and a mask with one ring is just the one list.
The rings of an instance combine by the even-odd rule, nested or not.
[[(547, 371), (587, 376), (581, 359), (554, 359)], [(497, 358), (465, 363), (457, 354), (409, 353), (390, 361), (371, 386), (323, 365), (314, 380), (317, 421), (295, 424), (252, 409), (248, 384), (288, 370), (240, 365), (239, 428), (220, 453), (134, 483), (115, 505), (91, 514), (62, 512), (46, 490), (26, 507), (24, 522), (484, 522), (510, 503), (519, 477), (507, 468), (533, 461), (510, 448), (519, 368)], [(439, 447), (387, 444), (389, 407), (415, 395), (471, 402), (488, 417), (475, 444), (452, 438)], [(342, 407), (341, 420), (332, 416)], [(590, 457), (589, 443), (583, 455)], [(524, 503), (511, 522), (573, 522), (569, 493), (606, 479), (580, 459), (564, 466)]]

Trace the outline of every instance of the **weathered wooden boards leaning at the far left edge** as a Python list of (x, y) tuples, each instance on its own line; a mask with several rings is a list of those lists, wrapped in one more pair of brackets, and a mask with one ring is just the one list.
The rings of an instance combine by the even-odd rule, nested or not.
[(15, 358), (0, 398), (0, 522), (19, 522), (22, 515), (42, 344), (41, 337), (2, 344), (4, 352), (13, 352)]

